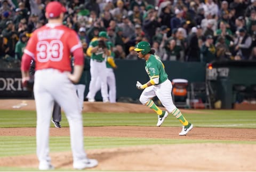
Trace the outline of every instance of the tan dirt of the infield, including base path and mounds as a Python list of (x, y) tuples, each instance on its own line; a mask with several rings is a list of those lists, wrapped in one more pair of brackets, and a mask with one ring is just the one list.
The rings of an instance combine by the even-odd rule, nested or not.
[[(26, 102), (25, 102), (26, 101)], [(23, 104), (20, 108), (17, 105)], [(16, 108), (13, 108), (15, 106)], [(35, 110), (33, 100), (0, 100), (0, 109)], [(84, 104), (85, 111), (152, 113), (135, 104)], [(185, 112), (185, 110), (181, 110)], [(186, 113), (189, 113), (186, 110)], [(200, 113), (193, 111), (193, 113)], [(179, 136), (181, 127), (104, 126), (84, 127), (85, 136), (146, 137), (189, 140), (256, 141), (255, 129), (195, 127), (187, 136)], [(35, 128), (1, 128), (0, 136), (35, 136)], [(68, 136), (69, 128), (51, 128), (51, 136)], [(86, 143), (85, 143), (86, 147)], [(110, 171), (256, 171), (255, 144), (173, 144), (148, 145), (129, 148), (97, 149), (86, 151), (90, 158), (99, 160), (93, 170)], [(72, 168), (71, 152), (51, 153), (53, 165)], [(37, 167), (35, 156), (0, 158), (0, 166)]]

